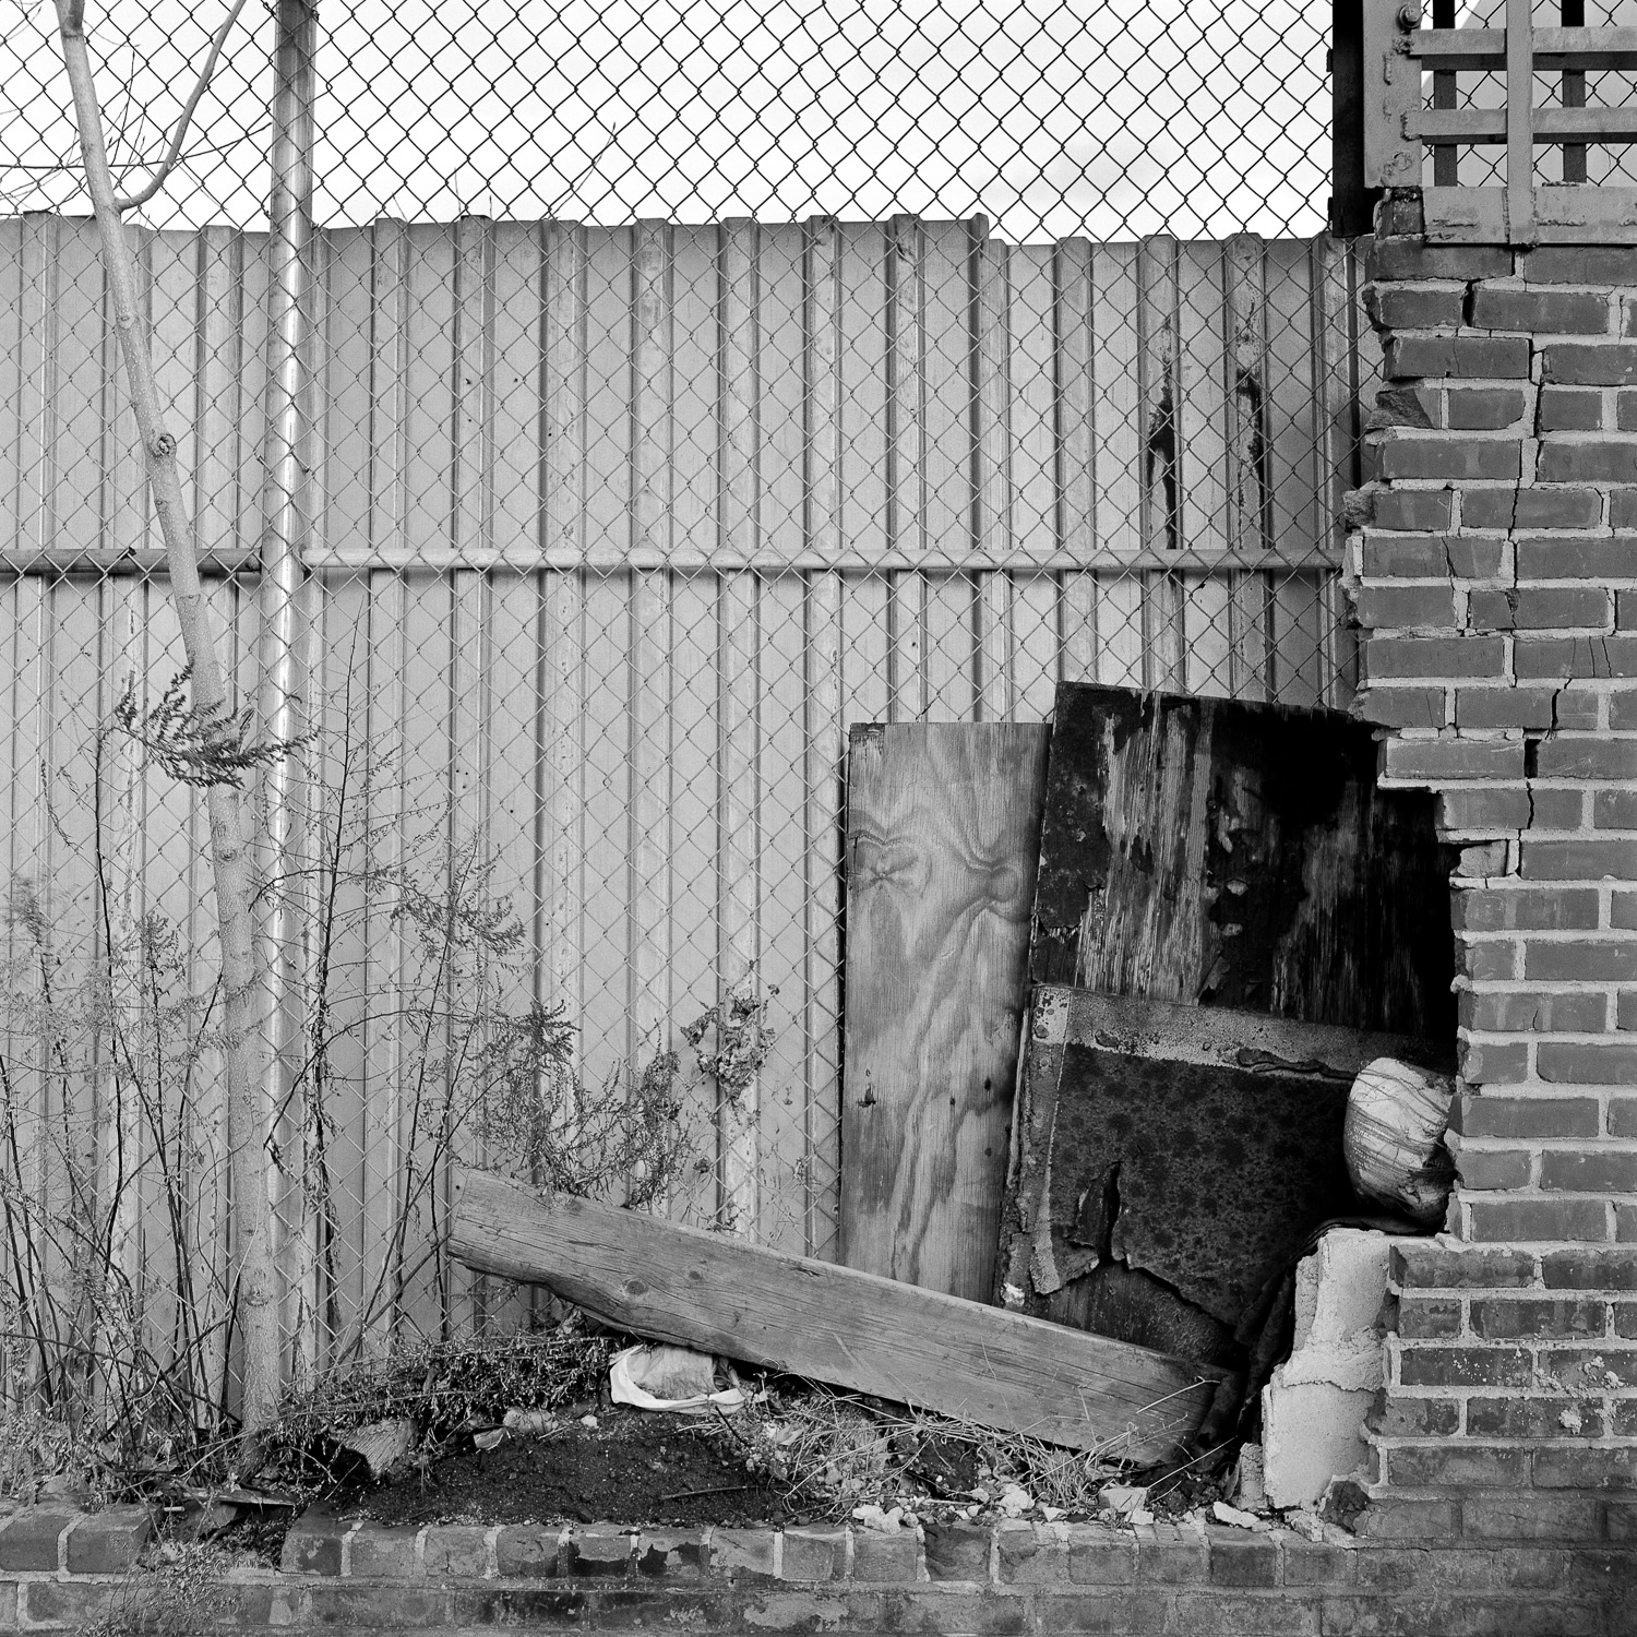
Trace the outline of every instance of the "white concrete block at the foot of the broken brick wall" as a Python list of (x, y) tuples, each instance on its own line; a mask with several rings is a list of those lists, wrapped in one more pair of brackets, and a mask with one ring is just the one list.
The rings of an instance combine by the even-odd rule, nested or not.
[(1333, 1228), (1297, 1264), (1292, 1354), (1262, 1388), (1264, 1481), (1274, 1506), (1316, 1506), (1331, 1478), (1364, 1465), (1360, 1423), (1383, 1380), (1377, 1319), (1395, 1242)]

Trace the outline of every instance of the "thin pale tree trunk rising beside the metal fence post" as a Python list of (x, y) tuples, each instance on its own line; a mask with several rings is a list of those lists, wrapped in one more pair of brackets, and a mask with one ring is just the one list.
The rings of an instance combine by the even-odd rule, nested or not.
[[(170, 591), (182, 627), (182, 647), (192, 668), (193, 704), (210, 710), (228, 702), (210, 612), (200, 588), (193, 525), (182, 504), (177, 440), (165, 431), (147, 326), (141, 319), (136, 260), (131, 254), (113, 174), (103, 142), (101, 110), (85, 49), (83, 0), (57, 0), (62, 56), (74, 90), (74, 113), (85, 160), (85, 185), (97, 211), (103, 267), (113, 295), (115, 326), (131, 385), (131, 408), (142, 439), (142, 457), (154, 493), (154, 514), (165, 542)], [(255, 925), (250, 915), (250, 868), (241, 818), (239, 791), (211, 784), (205, 792), (210, 815), (211, 868), (216, 882), (216, 923), (221, 940), (224, 1002), (223, 1062), (228, 1076), (228, 1162), (232, 1188), (232, 1283), (237, 1324), (244, 1337), (244, 1455), (254, 1465), (257, 1434), (278, 1403), (278, 1306), (273, 1272), (272, 1210), (267, 1198), (267, 1120), (262, 1103), (260, 984), (255, 971)]]

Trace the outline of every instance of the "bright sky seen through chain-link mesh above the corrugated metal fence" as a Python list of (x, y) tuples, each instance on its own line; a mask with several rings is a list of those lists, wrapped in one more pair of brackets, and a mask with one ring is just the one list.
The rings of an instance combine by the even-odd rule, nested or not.
[[(82, 210), (56, 16), (13, 8), (0, 210)], [(128, 190), (229, 0), (88, 11)], [(1316, 0), (362, 0), (319, 8), (314, 218), (599, 226), (987, 214), (1013, 242), (1318, 232)], [(265, 226), (273, 20), (246, 7), (141, 219)]]

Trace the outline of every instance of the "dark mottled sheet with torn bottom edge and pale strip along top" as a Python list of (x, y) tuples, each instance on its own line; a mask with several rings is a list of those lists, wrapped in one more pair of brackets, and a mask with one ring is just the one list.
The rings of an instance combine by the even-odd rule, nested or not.
[[(1354, 1076), (1382, 1056), (1447, 1067), (1400, 1035), (1036, 989), (1008, 1301), (1084, 1323), (1076, 1305), (1095, 1311), (1116, 1267), (1231, 1333), (1318, 1223), (1373, 1210), (1347, 1180), (1341, 1133)], [(1152, 1318), (1152, 1303), (1121, 1300)]]

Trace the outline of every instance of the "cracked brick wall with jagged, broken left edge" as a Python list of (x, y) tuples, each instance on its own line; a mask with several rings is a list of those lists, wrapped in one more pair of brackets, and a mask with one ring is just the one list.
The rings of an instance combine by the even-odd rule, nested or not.
[(1637, 247), (1378, 228), (1360, 710), (1463, 851), (1459, 1187), (1395, 1259), (1373, 1477), (1429, 1539), (1632, 1540)]

